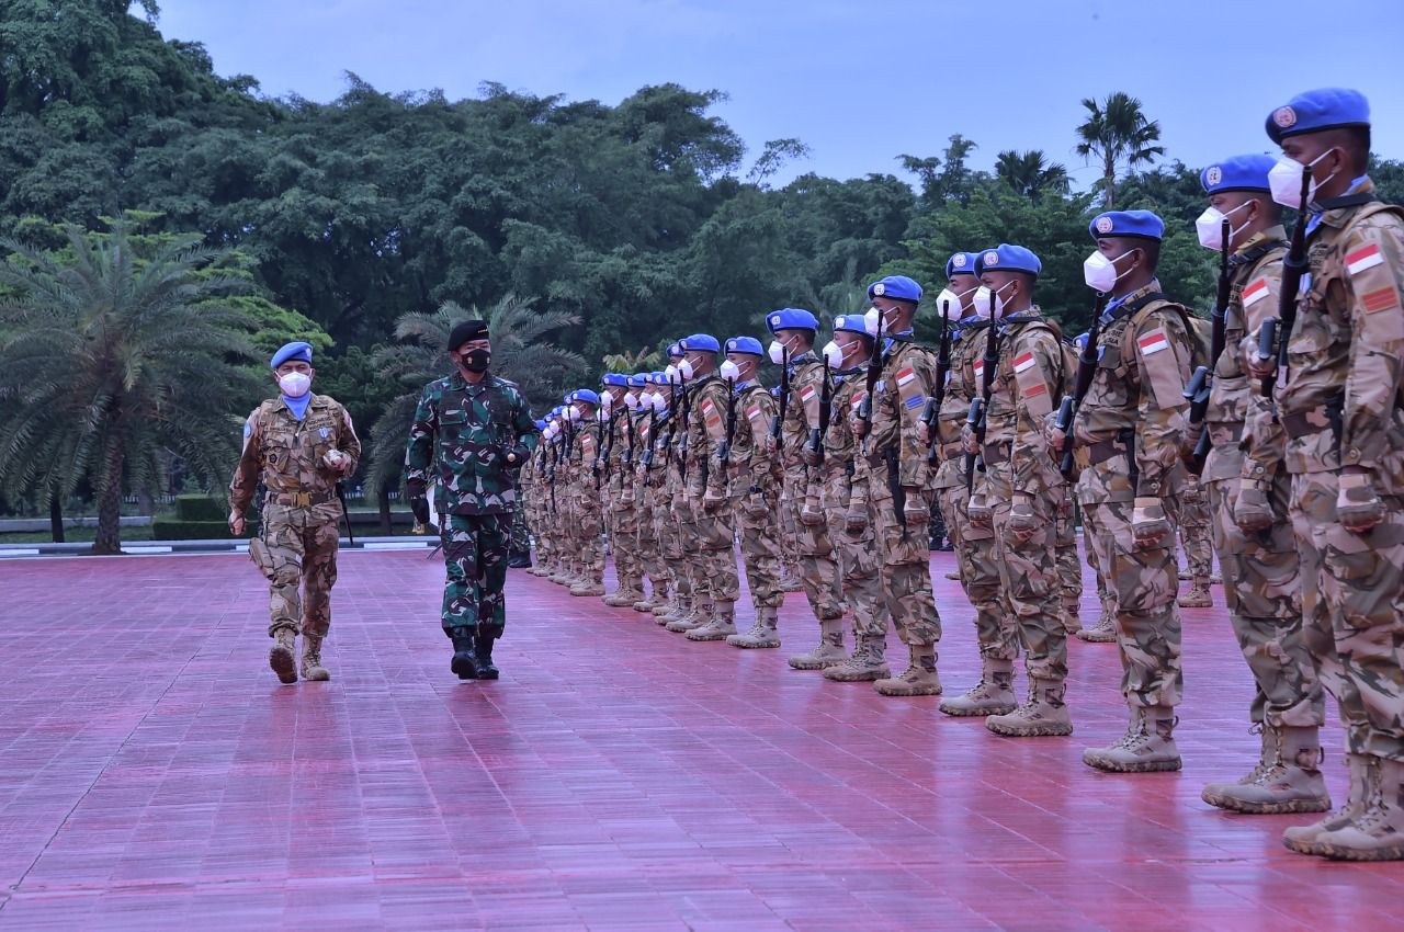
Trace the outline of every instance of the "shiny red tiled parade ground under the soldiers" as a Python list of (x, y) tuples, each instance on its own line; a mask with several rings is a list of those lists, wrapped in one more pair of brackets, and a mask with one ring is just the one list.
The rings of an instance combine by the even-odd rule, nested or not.
[[(960, 691), (970, 609), (932, 566)], [(336, 678), (281, 688), (240, 557), (0, 564), (0, 926), (1404, 928), (1404, 866), (1200, 803), (1257, 747), (1221, 608), (1185, 613), (1186, 769), (1106, 776), (1080, 755), (1122, 730), (1112, 646), (1073, 644), (1077, 735), (1011, 741), (518, 571), (503, 679), (461, 684), (441, 580), (344, 554)], [(782, 633), (812, 636), (797, 594)]]

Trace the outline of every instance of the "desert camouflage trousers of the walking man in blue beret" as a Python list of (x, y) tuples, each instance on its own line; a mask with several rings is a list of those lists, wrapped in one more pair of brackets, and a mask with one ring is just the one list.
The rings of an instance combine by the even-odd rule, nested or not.
[(270, 637), (281, 627), (327, 636), (340, 522), (337, 501), (310, 508), (264, 505), (263, 533), (250, 542), (249, 557), (268, 578)]

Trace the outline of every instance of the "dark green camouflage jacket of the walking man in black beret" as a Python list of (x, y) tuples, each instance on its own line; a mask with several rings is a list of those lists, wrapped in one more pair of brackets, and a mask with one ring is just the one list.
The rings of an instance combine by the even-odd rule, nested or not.
[(515, 385), (493, 375), (470, 385), (455, 372), (424, 386), (404, 452), (406, 484), (413, 494), (438, 480), (439, 514), (511, 514), (517, 487), (507, 452), (535, 446), (531, 408)]

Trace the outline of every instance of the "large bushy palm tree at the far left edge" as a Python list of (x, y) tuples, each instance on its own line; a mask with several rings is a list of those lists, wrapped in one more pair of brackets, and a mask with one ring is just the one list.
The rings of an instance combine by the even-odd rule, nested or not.
[(93, 553), (121, 553), (124, 487), (154, 493), (166, 452), (211, 488), (239, 453), (256, 380), (223, 299), (243, 282), (208, 267), (225, 254), (176, 237), (139, 257), (124, 223), (67, 227), (59, 254), (6, 240), (0, 264), (0, 483), (62, 501), (84, 480), (98, 507)]

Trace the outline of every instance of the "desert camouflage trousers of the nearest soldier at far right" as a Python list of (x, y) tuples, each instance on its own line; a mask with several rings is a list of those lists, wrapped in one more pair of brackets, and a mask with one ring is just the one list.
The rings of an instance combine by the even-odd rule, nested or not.
[(1302, 553), (1302, 616), (1346, 747), (1404, 761), (1404, 498), (1380, 495), (1384, 521), (1351, 533), (1337, 521), (1337, 473), (1292, 477)]

